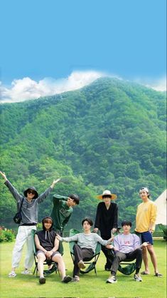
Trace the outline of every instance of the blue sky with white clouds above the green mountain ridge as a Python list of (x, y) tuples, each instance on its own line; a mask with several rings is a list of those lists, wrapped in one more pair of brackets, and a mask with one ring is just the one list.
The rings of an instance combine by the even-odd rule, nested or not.
[(164, 83), (166, 0), (2, 0), (0, 9), (6, 100), (91, 73)]

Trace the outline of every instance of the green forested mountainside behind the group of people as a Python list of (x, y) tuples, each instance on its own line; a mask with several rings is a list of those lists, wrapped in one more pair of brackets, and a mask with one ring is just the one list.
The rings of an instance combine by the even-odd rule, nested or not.
[[(75, 192), (81, 202), (70, 226), (95, 219), (104, 189), (116, 193), (119, 223), (135, 220), (138, 191), (153, 200), (166, 188), (166, 94), (134, 83), (100, 78), (90, 86), (22, 103), (1, 104), (1, 170), (19, 192)], [(2, 223), (11, 225), (16, 204), (1, 178)], [(50, 214), (52, 195), (41, 204)]]

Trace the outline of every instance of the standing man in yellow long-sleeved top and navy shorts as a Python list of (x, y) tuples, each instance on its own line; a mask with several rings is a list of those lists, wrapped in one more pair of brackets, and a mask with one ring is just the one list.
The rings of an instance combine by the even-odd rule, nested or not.
[(141, 204), (137, 207), (136, 212), (136, 234), (141, 237), (141, 243), (149, 242), (151, 245), (144, 247), (143, 250), (143, 260), (144, 260), (144, 272), (141, 274), (149, 274), (149, 259), (147, 255), (147, 250), (151, 257), (151, 262), (153, 264), (154, 272), (156, 277), (162, 277), (162, 274), (158, 273), (156, 253), (153, 250), (153, 237), (152, 233), (155, 230), (155, 222), (157, 215), (157, 207), (149, 200), (150, 194), (147, 187), (142, 187), (139, 190), (139, 195), (141, 197)]

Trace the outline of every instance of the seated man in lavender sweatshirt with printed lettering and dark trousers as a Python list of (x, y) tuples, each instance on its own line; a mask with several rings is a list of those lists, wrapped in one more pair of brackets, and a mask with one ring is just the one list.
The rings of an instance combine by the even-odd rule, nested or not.
[(136, 282), (142, 282), (142, 279), (139, 274), (142, 263), (142, 250), (141, 247), (146, 247), (149, 245), (148, 242), (144, 242), (140, 245), (140, 238), (131, 234), (131, 222), (129, 220), (124, 220), (122, 222), (122, 227), (124, 232), (122, 234), (114, 237), (114, 246), (109, 245), (109, 248), (114, 249), (115, 255), (112, 262), (111, 275), (107, 279), (107, 283), (114, 284), (117, 282), (117, 270), (119, 263), (126, 260), (135, 260), (136, 259), (136, 273), (134, 274), (134, 279)]

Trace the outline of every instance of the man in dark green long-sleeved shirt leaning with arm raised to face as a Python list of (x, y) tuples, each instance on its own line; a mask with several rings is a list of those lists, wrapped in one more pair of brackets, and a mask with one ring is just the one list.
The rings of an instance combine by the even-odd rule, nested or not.
[(80, 197), (78, 195), (53, 195), (53, 210), (50, 217), (53, 218), (53, 229), (58, 232), (61, 236), (63, 230), (70, 220), (72, 215), (73, 207), (79, 205)]

